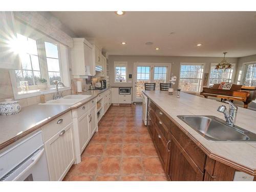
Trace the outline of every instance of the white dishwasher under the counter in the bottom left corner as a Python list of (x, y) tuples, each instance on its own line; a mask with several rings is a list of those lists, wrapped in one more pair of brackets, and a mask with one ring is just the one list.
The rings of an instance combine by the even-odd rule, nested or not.
[(0, 181), (49, 181), (41, 131), (0, 153)]

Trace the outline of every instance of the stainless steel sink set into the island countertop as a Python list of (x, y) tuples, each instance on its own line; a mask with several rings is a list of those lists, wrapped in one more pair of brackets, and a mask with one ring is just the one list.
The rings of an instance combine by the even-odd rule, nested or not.
[(229, 126), (215, 116), (178, 115), (200, 135), (210, 141), (256, 142), (256, 134), (239, 126)]

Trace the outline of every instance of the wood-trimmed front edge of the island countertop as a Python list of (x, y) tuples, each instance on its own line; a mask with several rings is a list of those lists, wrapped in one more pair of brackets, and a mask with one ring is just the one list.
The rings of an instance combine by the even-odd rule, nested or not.
[[(143, 91), (143, 93), (150, 99), (152, 99), (150, 97), (149, 94), (147, 94), (145, 91)], [(184, 94), (187, 94), (187, 93), (184, 93)], [(194, 95), (193, 95), (194, 96)], [(195, 96), (197, 97), (197, 96)], [(180, 125), (173, 117), (171, 117), (167, 112), (165, 112), (160, 106), (159, 104), (154, 101), (154, 99), (152, 99), (152, 101), (165, 113), (165, 115), (167, 115), (180, 129), (181, 131), (183, 131), (186, 136), (188, 136), (191, 140), (193, 140), (194, 143), (197, 144), (198, 147), (200, 147), (200, 149), (211, 159), (214, 159), (214, 160), (217, 160), (221, 163), (224, 163), (228, 166), (231, 166), (233, 168), (236, 168), (237, 170), (240, 170), (242, 172), (245, 172), (249, 175), (252, 175), (252, 176), (256, 176), (256, 167), (254, 168), (251, 168), (251, 167), (248, 167), (248, 166), (245, 166), (245, 165), (242, 165), (238, 162), (235, 162), (233, 160), (230, 160), (226, 157), (223, 157), (223, 156), (220, 156), (218, 154), (215, 154), (215, 153), (212, 153), (206, 146), (204, 146), (204, 144), (202, 142), (200, 142), (198, 139), (196, 139), (193, 134), (190, 134), (187, 130), (185, 130), (182, 125)], [(197, 134), (197, 135), (200, 135), (200, 134)], [(200, 135), (201, 136), (201, 135)], [(202, 137), (202, 136), (201, 136)], [(244, 143), (244, 142), (243, 142)], [(250, 145), (249, 143), (246, 143), (248, 145)], [(253, 147), (253, 146), (252, 146)]]

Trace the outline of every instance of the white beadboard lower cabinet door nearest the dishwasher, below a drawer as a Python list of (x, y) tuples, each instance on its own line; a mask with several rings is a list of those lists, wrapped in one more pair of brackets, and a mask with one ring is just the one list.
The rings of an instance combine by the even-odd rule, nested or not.
[(50, 180), (61, 181), (75, 161), (73, 124), (70, 123), (45, 142), (45, 148)]

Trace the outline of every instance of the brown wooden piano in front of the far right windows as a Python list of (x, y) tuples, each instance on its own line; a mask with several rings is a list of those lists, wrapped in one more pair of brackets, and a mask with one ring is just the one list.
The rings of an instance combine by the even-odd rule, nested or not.
[(246, 87), (239, 84), (232, 84), (230, 90), (219, 89), (220, 84), (214, 84), (214, 86), (204, 87), (200, 95), (205, 98), (217, 97), (221, 100), (238, 100), (244, 102), (244, 108), (248, 108), (248, 104), (256, 99), (256, 87)]

